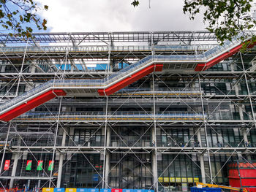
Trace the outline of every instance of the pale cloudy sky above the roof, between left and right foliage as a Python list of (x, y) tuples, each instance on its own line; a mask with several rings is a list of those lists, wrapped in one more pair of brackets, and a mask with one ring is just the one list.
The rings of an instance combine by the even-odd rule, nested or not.
[(51, 32), (80, 31), (195, 31), (205, 26), (200, 17), (189, 20), (182, 0), (39, 0), (49, 10), (42, 12)]

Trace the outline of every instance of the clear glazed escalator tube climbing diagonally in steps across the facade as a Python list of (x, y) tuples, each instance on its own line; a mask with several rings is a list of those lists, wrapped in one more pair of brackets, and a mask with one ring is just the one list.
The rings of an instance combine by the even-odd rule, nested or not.
[[(240, 37), (242, 34), (239, 34)], [(149, 55), (146, 58), (141, 59), (135, 64), (129, 65), (124, 69), (116, 72), (115, 74), (111, 74), (109, 77), (105, 77), (105, 79), (98, 79), (98, 80), (50, 80), (38, 87), (32, 89), (31, 91), (27, 91), (21, 96), (16, 97), (7, 103), (2, 104), (0, 106), (0, 110), (3, 111), (8, 107), (11, 107), (14, 104), (23, 101), (24, 99), (29, 98), (30, 96), (34, 96), (35, 94), (44, 91), (47, 88), (63, 88), (63, 87), (72, 87), (72, 86), (80, 86), (80, 87), (102, 87), (108, 86), (111, 82), (121, 79), (122, 77), (135, 72), (136, 69), (143, 69), (143, 66), (153, 62), (153, 61), (207, 61), (209, 58), (222, 53), (224, 50), (227, 50), (229, 47), (233, 47), (234, 45), (238, 45), (240, 40), (238, 37), (235, 37), (233, 41), (224, 42), (223, 45), (217, 45), (216, 47), (212, 48), (211, 50), (206, 51), (203, 54), (199, 55)]]

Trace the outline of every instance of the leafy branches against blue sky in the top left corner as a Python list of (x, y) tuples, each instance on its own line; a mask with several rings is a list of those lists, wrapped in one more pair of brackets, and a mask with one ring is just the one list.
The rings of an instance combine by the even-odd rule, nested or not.
[(47, 20), (39, 18), (40, 10), (48, 10), (33, 0), (0, 0), (0, 24), (2, 31), (8, 31), (10, 36), (31, 37), (34, 25), (38, 30), (46, 30)]

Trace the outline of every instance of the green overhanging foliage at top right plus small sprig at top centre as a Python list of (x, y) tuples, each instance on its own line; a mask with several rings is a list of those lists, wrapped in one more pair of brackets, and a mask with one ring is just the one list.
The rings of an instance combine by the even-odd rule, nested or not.
[[(203, 21), (208, 31), (214, 32), (219, 41), (231, 40), (239, 32), (252, 29), (256, 21), (252, 17), (253, 0), (184, 0), (183, 12), (191, 20), (203, 12)], [(139, 2), (133, 0), (132, 5)], [(241, 37), (244, 40), (246, 37)]]

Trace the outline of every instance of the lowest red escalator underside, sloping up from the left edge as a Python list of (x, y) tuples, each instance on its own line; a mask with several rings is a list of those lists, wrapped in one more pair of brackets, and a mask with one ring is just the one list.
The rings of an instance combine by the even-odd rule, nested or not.
[(19, 115), (34, 109), (34, 107), (44, 104), (45, 102), (55, 98), (56, 96), (66, 96), (66, 93), (65, 91), (59, 89), (50, 90), (45, 93), (42, 93), (42, 95), (36, 96), (33, 99), (27, 101), (26, 103), (20, 104), (18, 107), (15, 107), (12, 110), (0, 115), (0, 120), (12, 120), (13, 118), (18, 117)]

